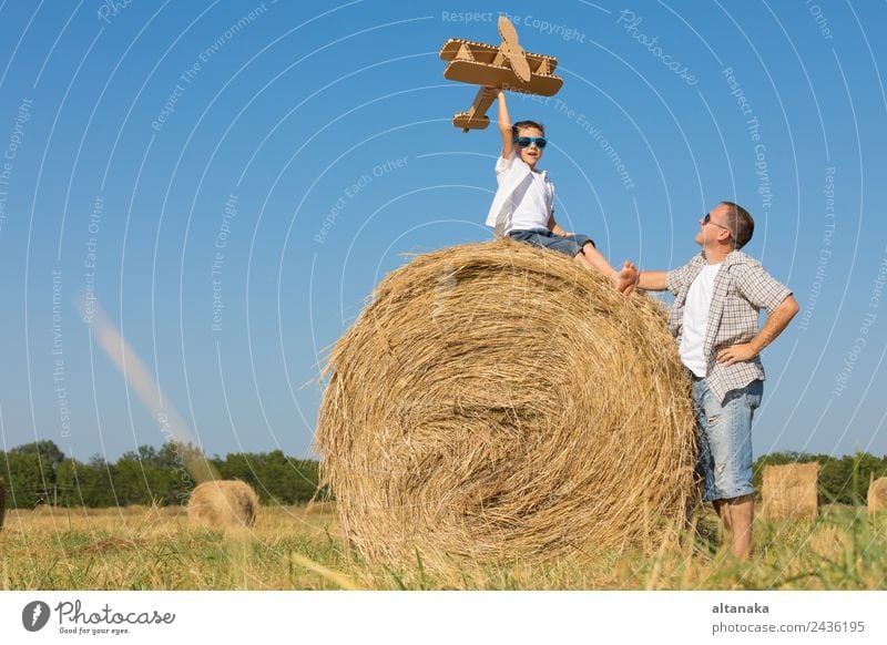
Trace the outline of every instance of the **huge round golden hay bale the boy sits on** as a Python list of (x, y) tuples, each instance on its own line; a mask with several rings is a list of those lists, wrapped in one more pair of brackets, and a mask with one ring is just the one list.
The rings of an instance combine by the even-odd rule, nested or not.
[(316, 444), (346, 535), (429, 569), (659, 547), (695, 501), (664, 311), (509, 240), (388, 275), (333, 349)]

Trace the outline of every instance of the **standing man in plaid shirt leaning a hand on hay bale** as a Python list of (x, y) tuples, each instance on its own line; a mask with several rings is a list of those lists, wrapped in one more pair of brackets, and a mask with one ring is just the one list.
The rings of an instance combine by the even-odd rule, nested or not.
[[(752, 419), (764, 381), (759, 354), (798, 310), (792, 291), (740, 250), (753, 233), (752, 216), (722, 202), (700, 219), (700, 255), (671, 272), (641, 272), (638, 280), (642, 289), (674, 295), (669, 329), (693, 380), (703, 501), (714, 504), (740, 557), (748, 557), (752, 545)], [(761, 309), (767, 319), (758, 329)]]

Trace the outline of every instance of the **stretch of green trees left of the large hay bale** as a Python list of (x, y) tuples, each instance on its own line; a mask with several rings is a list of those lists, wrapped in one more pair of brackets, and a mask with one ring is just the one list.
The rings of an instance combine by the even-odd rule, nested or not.
[(40, 504), (165, 506), (187, 503), (196, 485), (194, 464), (200, 468), (202, 460), (208, 461), (221, 479), (238, 479), (252, 485), (263, 504), (305, 503), (318, 491), (315, 460), (293, 459), (281, 450), (206, 459), (200, 449), (175, 442), (160, 449), (140, 446), (114, 462), (101, 455), (83, 462), (65, 457), (52, 441), (37, 441), (0, 451), (0, 477), (7, 482), (8, 509)]

